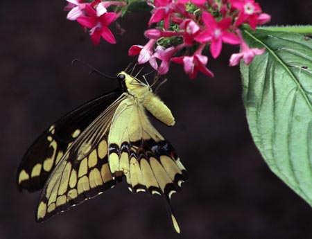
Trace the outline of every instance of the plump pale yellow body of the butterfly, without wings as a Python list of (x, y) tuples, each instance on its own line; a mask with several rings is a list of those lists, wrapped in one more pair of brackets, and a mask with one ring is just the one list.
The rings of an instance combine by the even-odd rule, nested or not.
[(144, 105), (150, 114), (153, 114), (155, 118), (166, 125), (172, 126), (175, 124), (175, 118), (171, 110), (153, 93), (149, 85), (133, 78), (125, 72), (121, 72), (120, 74), (125, 75), (125, 86), (127, 87), (128, 94), (135, 98), (138, 104)]

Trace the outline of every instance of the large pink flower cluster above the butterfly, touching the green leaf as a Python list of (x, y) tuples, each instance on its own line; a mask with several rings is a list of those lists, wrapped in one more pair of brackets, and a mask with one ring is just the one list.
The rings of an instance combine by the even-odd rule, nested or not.
[[(192, 10), (187, 10), (187, 7)], [(198, 71), (214, 76), (206, 67), (207, 55), (202, 55), (205, 46), (209, 45), (212, 57), (216, 58), (223, 42), (240, 44), (241, 53), (233, 54), (229, 65), (239, 64), (241, 58), (249, 64), (254, 55), (264, 52), (264, 48), (249, 48), (239, 26), (249, 24), (255, 29), (269, 20), (270, 15), (261, 13), (254, 0), (155, 0), (148, 26), (163, 21), (163, 27), (146, 30), (145, 36), (150, 39), (148, 43), (131, 46), (129, 55), (139, 55), (139, 64), (149, 62), (159, 75), (167, 73), (169, 64), (175, 62), (184, 65), (184, 71), (190, 78), (195, 78)], [(180, 37), (182, 40), (176, 46), (163, 48), (159, 41), (168, 37)]]

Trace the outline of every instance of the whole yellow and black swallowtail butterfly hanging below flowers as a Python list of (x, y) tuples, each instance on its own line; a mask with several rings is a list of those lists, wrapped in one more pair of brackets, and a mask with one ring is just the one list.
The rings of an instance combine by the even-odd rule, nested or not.
[(145, 77), (143, 82), (121, 71), (114, 79), (118, 89), (74, 109), (39, 136), (19, 165), (18, 187), (42, 189), (36, 212), (42, 222), (125, 177), (132, 193), (164, 198), (173, 229), (180, 233), (170, 199), (187, 181), (187, 172), (147, 112), (166, 125), (175, 119)]

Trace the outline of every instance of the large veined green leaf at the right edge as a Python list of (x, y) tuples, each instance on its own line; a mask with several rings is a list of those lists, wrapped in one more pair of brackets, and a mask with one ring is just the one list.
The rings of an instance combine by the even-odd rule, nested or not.
[(266, 48), (241, 64), (243, 101), (254, 143), (270, 169), (312, 206), (312, 39), (243, 30), (250, 47)]

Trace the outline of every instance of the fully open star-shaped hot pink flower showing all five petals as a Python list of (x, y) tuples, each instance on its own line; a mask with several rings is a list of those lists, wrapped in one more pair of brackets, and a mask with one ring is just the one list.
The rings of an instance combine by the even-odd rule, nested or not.
[(232, 21), (230, 17), (223, 18), (221, 21), (217, 22), (210, 13), (203, 12), (202, 21), (204, 21), (207, 30), (199, 33), (195, 39), (200, 43), (207, 43), (211, 41), (210, 52), (214, 58), (220, 55), (222, 42), (232, 45), (240, 43), (239, 37), (237, 37), (234, 33), (227, 31)]

